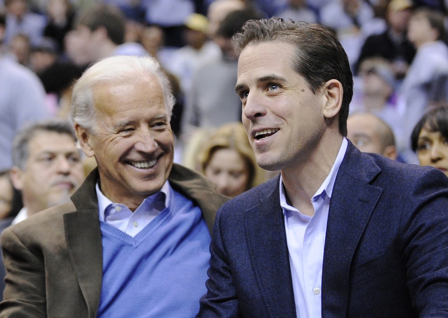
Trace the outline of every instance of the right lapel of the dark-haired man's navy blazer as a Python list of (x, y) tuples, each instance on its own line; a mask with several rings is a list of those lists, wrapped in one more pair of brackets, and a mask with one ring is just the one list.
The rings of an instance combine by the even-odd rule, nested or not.
[(324, 247), (322, 317), (346, 315), (350, 264), (382, 193), (368, 184), (380, 172), (368, 159), (349, 144), (336, 178)]

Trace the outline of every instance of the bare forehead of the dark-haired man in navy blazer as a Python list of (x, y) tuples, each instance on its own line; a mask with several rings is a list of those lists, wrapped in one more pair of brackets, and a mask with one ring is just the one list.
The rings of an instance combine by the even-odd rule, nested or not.
[(293, 69), (295, 52), (294, 45), (281, 41), (248, 45), (238, 59), (238, 79), (249, 75), (263, 77), (272, 72), (296, 73)]

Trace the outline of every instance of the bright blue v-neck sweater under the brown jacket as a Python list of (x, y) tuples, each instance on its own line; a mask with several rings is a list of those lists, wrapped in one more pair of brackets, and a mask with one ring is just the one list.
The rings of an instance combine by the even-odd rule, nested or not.
[(206, 292), (210, 235), (197, 205), (174, 191), (134, 238), (101, 222), (98, 317), (193, 317)]

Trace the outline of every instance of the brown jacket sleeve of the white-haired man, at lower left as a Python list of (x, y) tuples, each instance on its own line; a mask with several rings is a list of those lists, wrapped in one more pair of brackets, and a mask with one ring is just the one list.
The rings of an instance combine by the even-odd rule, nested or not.
[(6, 269), (0, 318), (46, 317), (45, 270), (39, 249), (30, 250), (9, 227), (1, 238)]

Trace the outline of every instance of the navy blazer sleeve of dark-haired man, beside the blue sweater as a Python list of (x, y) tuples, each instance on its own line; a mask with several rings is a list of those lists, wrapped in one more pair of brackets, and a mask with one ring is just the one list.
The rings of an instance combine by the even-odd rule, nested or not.
[(197, 317), (240, 317), (238, 298), (226, 250), (222, 240), (221, 230), (222, 208), (218, 210), (213, 236), (210, 243), (210, 268), (207, 271), (207, 293), (200, 300), (200, 310)]

